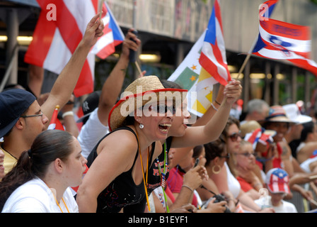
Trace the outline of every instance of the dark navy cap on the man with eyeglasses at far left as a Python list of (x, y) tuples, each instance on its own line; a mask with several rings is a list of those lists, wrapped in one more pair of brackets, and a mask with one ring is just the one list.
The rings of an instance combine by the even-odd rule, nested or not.
[(23, 89), (9, 89), (0, 93), (0, 138), (18, 121), (36, 97)]

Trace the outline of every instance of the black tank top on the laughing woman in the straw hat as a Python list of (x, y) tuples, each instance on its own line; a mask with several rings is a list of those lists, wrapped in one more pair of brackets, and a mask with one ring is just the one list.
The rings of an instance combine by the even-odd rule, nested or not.
[[(117, 128), (115, 131), (117, 130), (128, 130), (134, 133), (134, 131), (129, 127)], [(113, 133), (115, 131), (112, 131), (110, 133)], [(101, 140), (103, 140), (105, 137), (110, 135), (110, 133), (105, 135)], [(137, 135), (135, 133), (134, 135), (137, 138)], [(96, 147), (93, 148), (90, 155), (87, 157), (88, 167), (91, 166), (91, 164), (93, 163), (93, 160), (95, 160), (96, 157), (98, 156), (97, 148), (101, 140), (99, 140)], [(139, 144), (139, 141), (137, 143)], [(154, 149), (155, 149), (155, 142), (152, 143), (151, 155), (149, 157), (149, 166), (151, 166), (151, 160), (154, 154)], [(117, 213), (125, 206), (138, 204), (140, 201), (144, 199), (145, 190), (144, 190), (143, 180), (141, 184), (137, 185), (134, 183), (134, 180), (132, 178), (132, 170), (138, 155), (139, 155), (139, 150), (137, 150), (137, 153), (134, 157), (134, 162), (131, 169), (128, 170), (127, 172), (122, 172), (121, 175), (117, 176), (113, 180), (113, 182), (111, 182), (108, 185), (108, 187), (103, 189), (103, 192), (99, 194), (97, 199), (97, 202), (98, 202), (97, 213)]]

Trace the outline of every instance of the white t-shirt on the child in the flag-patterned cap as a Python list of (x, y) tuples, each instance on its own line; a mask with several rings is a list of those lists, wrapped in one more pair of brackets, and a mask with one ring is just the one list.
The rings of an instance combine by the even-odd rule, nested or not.
[(282, 200), (282, 204), (279, 206), (272, 206), (271, 196), (261, 196), (260, 199), (255, 200), (255, 204), (264, 208), (272, 207), (275, 213), (297, 213), (296, 206), (289, 201)]

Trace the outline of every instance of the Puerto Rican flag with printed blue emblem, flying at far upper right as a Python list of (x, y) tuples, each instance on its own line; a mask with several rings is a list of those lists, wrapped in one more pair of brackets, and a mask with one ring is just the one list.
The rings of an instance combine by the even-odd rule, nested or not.
[(265, 12), (260, 11), (259, 36), (252, 53), (260, 57), (288, 60), (317, 76), (317, 64), (309, 59), (311, 39), (308, 26), (265, 18)]

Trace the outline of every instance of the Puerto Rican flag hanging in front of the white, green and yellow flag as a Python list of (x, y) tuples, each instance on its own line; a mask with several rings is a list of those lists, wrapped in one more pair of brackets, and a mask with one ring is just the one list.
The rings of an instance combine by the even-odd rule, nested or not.
[(207, 79), (214, 77), (217, 82), (223, 85), (226, 85), (231, 80), (226, 62), (226, 48), (218, 0), (214, 2), (212, 15), (209, 18), (199, 62), (202, 69), (210, 75)]

